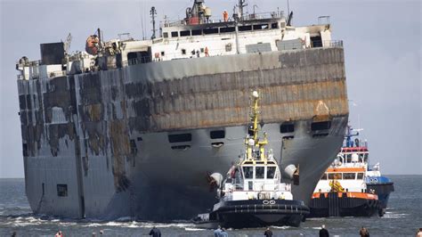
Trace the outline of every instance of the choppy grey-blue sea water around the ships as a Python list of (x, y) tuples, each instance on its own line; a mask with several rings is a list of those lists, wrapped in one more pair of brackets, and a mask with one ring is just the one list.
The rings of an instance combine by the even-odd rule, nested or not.
[[(395, 192), (390, 196), (384, 217), (344, 217), (307, 219), (298, 228), (272, 226), (274, 236), (314, 236), (326, 225), (331, 236), (356, 236), (361, 226), (371, 236), (414, 236), (422, 228), (422, 176), (389, 176)], [(25, 196), (23, 179), (0, 179), (0, 236), (149, 236), (157, 226), (162, 236), (214, 236), (212, 230), (198, 229), (189, 221), (172, 223), (136, 222), (130, 217), (115, 221), (58, 219), (37, 217), (31, 212)], [(264, 229), (227, 231), (229, 236), (263, 236)]]

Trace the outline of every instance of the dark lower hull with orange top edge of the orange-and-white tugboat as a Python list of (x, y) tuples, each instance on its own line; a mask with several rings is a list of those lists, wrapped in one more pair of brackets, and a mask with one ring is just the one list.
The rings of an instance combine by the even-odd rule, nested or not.
[(379, 200), (364, 198), (376, 196), (369, 193), (347, 195), (346, 192), (318, 193), (310, 203), (311, 214), (308, 217), (372, 217), (377, 214)]

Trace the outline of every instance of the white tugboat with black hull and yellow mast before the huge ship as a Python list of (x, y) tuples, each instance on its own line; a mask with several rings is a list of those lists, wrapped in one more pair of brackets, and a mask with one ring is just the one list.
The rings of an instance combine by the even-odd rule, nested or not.
[(303, 200), (293, 200), (290, 184), (280, 182), (279, 164), (272, 150), (265, 151), (266, 134), (260, 137), (259, 94), (254, 91), (252, 95), (253, 125), (245, 140), (245, 153), (239, 164), (230, 168), (224, 181), (221, 174), (211, 175), (220, 201), (211, 213), (199, 215), (199, 223), (232, 228), (298, 226), (309, 214), (309, 208)]

